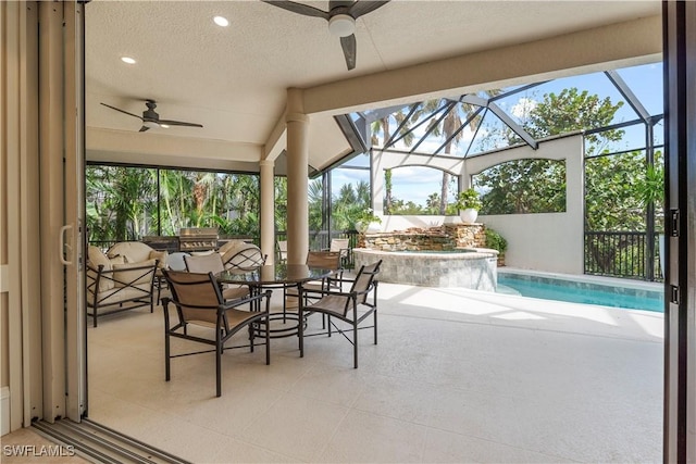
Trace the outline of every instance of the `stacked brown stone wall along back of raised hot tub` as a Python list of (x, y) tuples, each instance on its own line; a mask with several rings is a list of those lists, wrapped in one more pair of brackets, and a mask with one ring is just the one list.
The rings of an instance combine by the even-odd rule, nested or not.
[(388, 233), (361, 234), (359, 248), (385, 251), (440, 251), (455, 248), (485, 248), (486, 226), (483, 224), (444, 224), (439, 227)]

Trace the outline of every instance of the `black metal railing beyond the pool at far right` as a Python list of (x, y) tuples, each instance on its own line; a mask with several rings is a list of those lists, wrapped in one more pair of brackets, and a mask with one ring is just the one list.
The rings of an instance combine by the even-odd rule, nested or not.
[(650, 253), (646, 233), (586, 231), (585, 274), (661, 281), (659, 236)]

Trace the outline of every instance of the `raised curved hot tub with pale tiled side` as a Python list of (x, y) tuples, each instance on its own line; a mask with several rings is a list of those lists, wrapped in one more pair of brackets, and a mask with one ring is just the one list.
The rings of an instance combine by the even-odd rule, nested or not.
[(378, 280), (424, 287), (495, 291), (498, 252), (485, 248), (450, 251), (352, 250), (356, 269), (382, 260)]

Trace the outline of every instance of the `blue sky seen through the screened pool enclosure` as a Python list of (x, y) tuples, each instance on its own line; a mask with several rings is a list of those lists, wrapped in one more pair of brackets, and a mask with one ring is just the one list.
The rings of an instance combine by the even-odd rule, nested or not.
[[(662, 114), (662, 63), (654, 63), (642, 66), (618, 70), (621, 78), (638, 98), (649, 114)], [(580, 91), (587, 90), (591, 95), (597, 93), (601, 98), (609, 97), (612, 103), (623, 100), (622, 96), (613, 87), (604, 73), (591, 75), (566, 77), (544, 84), (538, 88), (518, 93), (508, 99), (497, 101), (508, 113), (520, 115), (520, 108), (529, 100), (542, 100), (544, 93), (560, 92), (563, 88), (577, 87)], [(617, 112), (614, 122), (632, 121), (637, 118), (636, 113), (629, 104), (625, 104)], [(656, 133), (663, 128), (660, 124), (656, 127)], [(472, 134), (464, 134), (462, 142), (468, 143)], [(633, 149), (645, 146), (645, 134), (639, 127), (626, 130), (622, 146), (612, 147), (614, 150)], [(661, 137), (660, 137), (661, 140)], [(435, 150), (443, 143), (443, 139), (425, 141), (419, 147), (420, 152)], [(460, 145), (460, 150), (463, 150)], [(361, 155), (349, 164), (368, 166), (368, 156)], [(359, 170), (334, 170), (332, 178), (333, 195), (337, 195), (345, 184), (369, 181), (369, 171)], [(413, 201), (417, 204), (424, 204), (427, 197), (433, 192), (439, 192), (442, 172), (425, 167), (400, 167), (393, 171), (393, 196), (400, 200)]]

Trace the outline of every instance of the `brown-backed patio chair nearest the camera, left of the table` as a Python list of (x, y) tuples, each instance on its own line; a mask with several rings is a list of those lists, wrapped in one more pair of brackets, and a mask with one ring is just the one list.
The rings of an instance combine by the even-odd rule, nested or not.
[[(215, 352), (215, 394), (222, 394), (222, 354), (225, 349), (240, 347), (225, 347), (227, 340), (243, 328), (249, 330), (249, 349), (253, 352), (254, 334), (259, 324), (269, 324), (271, 291), (266, 290), (254, 297), (225, 301), (220, 285), (212, 273), (199, 274), (184, 271), (163, 269), (164, 278), (172, 291), (172, 297), (162, 299), (164, 312), (164, 360), (165, 379), (171, 379), (172, 358), (191, 354)], [(265, 305), (263, 305), (265, 300)], [(249, 301), (256, 303), (259, 311), (243, 311), (237, 309)], [(172, 325), (170, 318), (170, 303), (176, 309), (177, 322)], [(214, 337), (189, 334), (188, 326), (196, 325), (213, 329)], [(172, 337), (197, 341), (214, 347), (214, 350), (172, 354)], [(244, 346), (246, 347), (246, 344)], [(265, 363), (271, 363), (271, 346), (269, 330), (265, 330)]]

